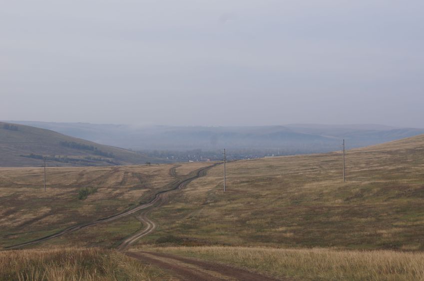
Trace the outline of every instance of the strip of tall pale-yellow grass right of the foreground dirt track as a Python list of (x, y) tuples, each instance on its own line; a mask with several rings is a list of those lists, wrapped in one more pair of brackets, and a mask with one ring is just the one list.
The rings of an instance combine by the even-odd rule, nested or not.
[(143, 247), (143, 250), (231, 264), (282, 279), (353, 281), (424, 279), (423, 253), (219, 246)]

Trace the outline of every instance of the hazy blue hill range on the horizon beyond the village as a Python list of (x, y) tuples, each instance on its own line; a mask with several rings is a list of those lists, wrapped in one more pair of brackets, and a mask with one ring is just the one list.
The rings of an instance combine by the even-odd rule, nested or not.
[[(424, 129), (382, 125), (290, 124), (251, 127), (172, 127), (99, 125), (15, 121), (65, 135), (133, 150), (218, 150), (274, 149), (282, 154), (328, 152), (367, 146), (424, 134)], [(274, 153), (274, 152), (272, 152)]]

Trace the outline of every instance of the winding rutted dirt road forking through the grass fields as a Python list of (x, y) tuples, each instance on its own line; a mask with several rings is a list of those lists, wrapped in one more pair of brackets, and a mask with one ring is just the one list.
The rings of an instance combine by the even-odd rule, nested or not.
[[(143, 236), (148, 235), (154, 231), (157, 227), (157, 224), (150, 220), (147, 215), (154, 210), (155, 208), (160, 207), (162, 204), (166, 203), (168, 200), (168, 194), (171, 191), (176, 189), (183, 188), (187, 183), (192, 180), (201, 177), (206, 174), (206, 171), (217, 164), (207, 166), (201, 169), (198, 169), (196, 174), (192, 177), (184, 179), (180, 182), (175, 183), (171, 189), (160, 191), (155, 194), (155, 197), (148, 203), (139, 205), (131, 210), (126, 212), (98, 219), (96, 221), (80, 224), (76, 226), (69, 227), (65, 230), (59, 231), (55, 234), (45, 236), (36, 240), (25, 242), (22, 244), (14, 245), (7, 247), (6, 249), (16, 249), (23, 246), (40, 243), (61, 235), (77, 231), (79, 229), (95, 225), (103, 222), (110, 222), (117, 220), (119, 218), (134, 214), (138, 211), (141, 211), (136, 217), (143, 223), (144, 228), (132, 236), (125, 239), (118, 247), (117, 250), (123, 252), (123, 254), (138, 260), (141, 263), (157, 266), (167, 272), (169, 272), (173, 277), (172, 280), (184, 280), (184, 281), (228, 281), (228, 280), (242, 280), (242, 281), (276, 281), (277, 279), (267, 277), (261, 274), (253, 273), (247, 270), (235, 268), (228, 265), (223, 265), (219, 263), (210, 263), (206, 261), (179, 257), (166, 253), (153, 253), (145, 251), (127, 251), (127, 249), (134, 244), (137, 240)], [(176, 176), (175, 169), (171, 169), (171, 174)]]

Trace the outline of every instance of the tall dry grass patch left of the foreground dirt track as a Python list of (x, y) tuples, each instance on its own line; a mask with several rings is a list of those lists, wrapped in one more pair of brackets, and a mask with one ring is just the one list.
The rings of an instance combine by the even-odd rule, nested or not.
[(157, 268), (144, 266), (116, 251), (62, 248), (0, 251), (1, 281), (164, 280)]

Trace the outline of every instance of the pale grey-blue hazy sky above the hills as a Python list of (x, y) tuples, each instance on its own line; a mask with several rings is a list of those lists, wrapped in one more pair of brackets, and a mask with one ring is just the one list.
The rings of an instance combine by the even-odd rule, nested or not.
[(0, 3), (0, 120), (424, 127), (423, 0)]

